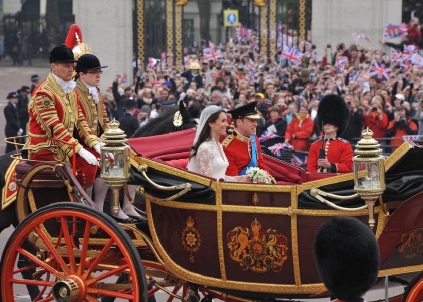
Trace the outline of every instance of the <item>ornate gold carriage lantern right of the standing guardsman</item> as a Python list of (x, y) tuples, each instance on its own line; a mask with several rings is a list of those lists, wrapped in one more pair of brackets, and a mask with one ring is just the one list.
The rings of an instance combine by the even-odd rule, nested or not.
[(380, 144), (375, 140), (373, 131), (365, 129), (363, 138), (355, 146), (354, 191), (363, 199), (369, 209), (369, 226), (375, 226), (374, 205), (385, 191), (385, 158), (381, 155)]

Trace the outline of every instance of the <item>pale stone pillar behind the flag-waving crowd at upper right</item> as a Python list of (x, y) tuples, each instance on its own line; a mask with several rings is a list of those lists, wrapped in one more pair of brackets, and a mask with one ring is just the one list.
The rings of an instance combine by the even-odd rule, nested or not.
[(313, 0), (312, 41), (317, 47), (317, 60), (323, 55), (322, 46), (330, 43), (348, 47), (355, 43), (352, 33), (364, 33), (371, 42), (360, 40), (363, 47), (380, 48), (379, 40), (387, 23), (401, 24), (401, 0)]

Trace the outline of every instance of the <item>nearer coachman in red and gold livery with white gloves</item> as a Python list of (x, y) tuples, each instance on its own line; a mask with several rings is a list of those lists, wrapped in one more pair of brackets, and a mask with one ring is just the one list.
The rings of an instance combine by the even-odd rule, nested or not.
[[(97, 158), (85, 148), (100, 154), (100, 144), (82, 114), (79, 96), (72, 81), (74, 54), (65, 45), (53, 48), (50, 53), (51, 73), (33, 92), (28, 105), (29, 139), (23, 150), (30, 160), (71, 163), (72, 146), (52, 137), (76, 142), (77, 179), (84, 187), (94, 183)], [(87, 147), (80, 143), (84, 142)]]

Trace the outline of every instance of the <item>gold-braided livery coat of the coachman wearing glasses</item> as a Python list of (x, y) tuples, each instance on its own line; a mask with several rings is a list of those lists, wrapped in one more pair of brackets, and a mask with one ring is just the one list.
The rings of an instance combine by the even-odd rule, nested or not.
[(96, 136), (100, 136), (109, 128), (108, 124), (110, 122), (106, 112), (105, 99), (100, 90), (97, 89), (99, 102), (96, 104), (84, 82), (78, 78), (76, 83), (75, 90), (78, 92), (81, 110), (87, 120), (88, 127)]

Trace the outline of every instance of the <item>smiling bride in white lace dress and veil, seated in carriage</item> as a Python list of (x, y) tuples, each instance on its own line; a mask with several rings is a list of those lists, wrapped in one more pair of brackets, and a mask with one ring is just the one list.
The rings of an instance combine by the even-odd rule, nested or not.
[(227, 126), (226, 111), (220, 106), (211, 105), (201, 112), (187, 169), (217, 180), (251, 182), (250, 177), (247, 175), (225, 175), (229, 163), (219, 138), (222, 135), (226, 135)]

